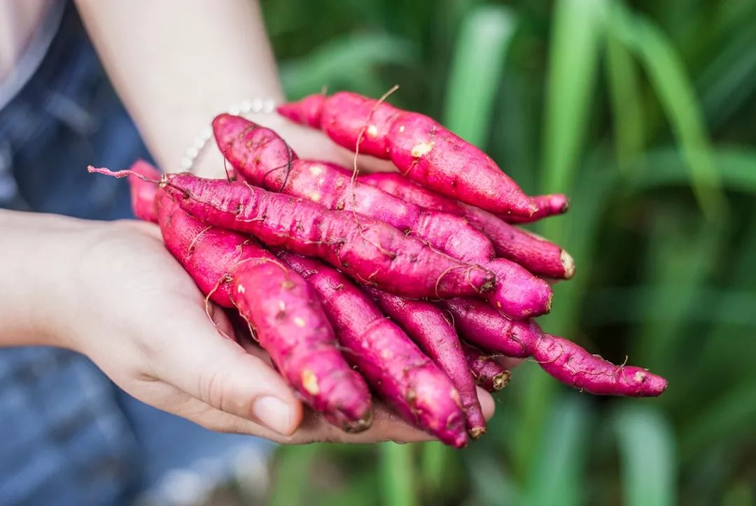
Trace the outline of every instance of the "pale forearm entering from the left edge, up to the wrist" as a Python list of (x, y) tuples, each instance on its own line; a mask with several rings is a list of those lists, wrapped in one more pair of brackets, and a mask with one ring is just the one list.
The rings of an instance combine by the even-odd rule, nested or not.
[(71, 276), (70, 237), (87, 222), (0, 209), (0, 347), (65, 345), (57, 308)]

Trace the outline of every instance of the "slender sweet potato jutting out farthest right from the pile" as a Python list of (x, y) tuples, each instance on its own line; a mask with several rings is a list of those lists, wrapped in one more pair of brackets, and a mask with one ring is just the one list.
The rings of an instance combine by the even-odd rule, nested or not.
[(545, 334), (535, 322), (513, 322), (473, 298), (443, 302), (460, 334), (472, 344), (507, 356), (531, 356), (564, 384), (598, 395), (658, 396), (667, 380), (646, 369), (617, 366), (565, 338)]

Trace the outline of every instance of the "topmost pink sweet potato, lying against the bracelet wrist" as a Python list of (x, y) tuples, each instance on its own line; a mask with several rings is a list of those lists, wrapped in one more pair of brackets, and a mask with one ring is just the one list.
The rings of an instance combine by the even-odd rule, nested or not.
[(454, 199), (522, 218), (538, 210), (490, 157), (428, 116), (349, 92), (312, 95), (278, 113), (321, 128), (349, 150), (390, 159), (402, 174)]

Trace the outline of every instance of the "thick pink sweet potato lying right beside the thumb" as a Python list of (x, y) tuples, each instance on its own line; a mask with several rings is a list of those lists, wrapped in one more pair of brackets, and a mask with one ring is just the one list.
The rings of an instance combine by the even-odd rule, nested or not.
[(207, 227), (159, 190), (166, 247), (206, 295), (237, 307), (260, 346), (312, 409), (348, 432), (370, 427), (370, 391), (346, 363), (312, 288), (254, 239)]

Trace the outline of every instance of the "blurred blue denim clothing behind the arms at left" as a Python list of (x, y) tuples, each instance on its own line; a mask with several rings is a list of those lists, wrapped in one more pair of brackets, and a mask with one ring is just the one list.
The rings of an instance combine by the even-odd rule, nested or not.
[[(0, 110), (0, 206), (128, 218), (125, 182), (85, 167), (138, 157), (144, 143), (67, 5), (45, 60)], [(0, 349), (0, 505), (128, 504), (167, 471), (213, 462), (218, 477), (250, 448), (268, 446), (146, 406), (79, 354)]]

